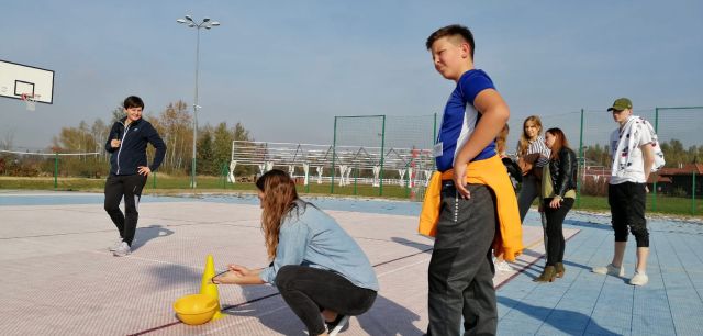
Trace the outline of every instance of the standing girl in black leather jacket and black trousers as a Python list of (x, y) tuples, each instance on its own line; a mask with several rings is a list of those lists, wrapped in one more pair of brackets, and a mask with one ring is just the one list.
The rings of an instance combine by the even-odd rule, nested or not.
[(540, 209), (547, 217), (547, 266), (535, 281), (551, 282), (563, 277), (565, 239), (562, 224), (576, 198), (576, 153), (569, 148), (563, 132), (549, 128), (545, 132), (545, 145), (551, 149), (549, 164), (543, 168)]

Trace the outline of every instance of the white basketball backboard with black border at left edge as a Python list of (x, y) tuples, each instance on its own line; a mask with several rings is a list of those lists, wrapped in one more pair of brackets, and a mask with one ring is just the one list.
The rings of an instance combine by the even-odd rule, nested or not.
[(54, 71), (0, 59), (0, 97), (36, 98), (36, 102), (54, 103)]

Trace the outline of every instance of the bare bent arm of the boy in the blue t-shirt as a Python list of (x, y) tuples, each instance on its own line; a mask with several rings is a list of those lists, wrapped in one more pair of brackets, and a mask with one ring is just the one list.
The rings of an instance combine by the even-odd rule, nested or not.
[(466, 165), (495, 139), (510, 116), (507, 104), (494, 89), (479, 92), (473, 100), (473, 107), (482, 114), (481, 119), (469, 139), (459, 150), (454, 164), (454, 183), (464, 198), (470, 197), (465, 187)]

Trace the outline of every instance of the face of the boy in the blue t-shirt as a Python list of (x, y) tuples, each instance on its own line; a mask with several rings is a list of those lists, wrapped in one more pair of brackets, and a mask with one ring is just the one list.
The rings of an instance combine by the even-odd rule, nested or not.
[(445, 36), (432, 44), (432, 60), (442, 77), (458, 81), (464, 72), (472, 68), (469, 55), (470, 47), (466, 42), (457, 43), (460, 38)]

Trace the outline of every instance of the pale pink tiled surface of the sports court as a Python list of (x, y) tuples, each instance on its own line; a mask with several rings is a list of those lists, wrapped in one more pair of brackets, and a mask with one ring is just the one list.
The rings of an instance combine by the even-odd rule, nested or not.
[[(381, 291), (343, 335), (422, 335), (427, 324), (432, 240), (416, 216), (327, 211), (369, 256)], [(142, 203), (134, 251), (108, 251), (115, 228), (102, 206), (0, 206), (0, 331), (3, 335), (305, 335), (272, 287), (220, 285), (224, 318), (178, 322), (176, 299), (197, 293), (205, 258), (267, 264), (256, 205), (199, 201)], [(567, 238), (578, 229), (567, 229)], [(535, 264), (542, 229), (524, 227), (526, 253), (495, 285)]]

